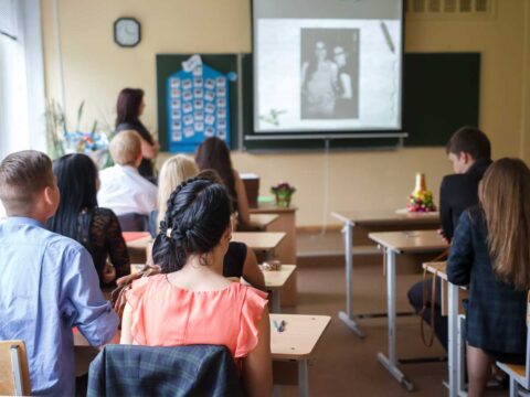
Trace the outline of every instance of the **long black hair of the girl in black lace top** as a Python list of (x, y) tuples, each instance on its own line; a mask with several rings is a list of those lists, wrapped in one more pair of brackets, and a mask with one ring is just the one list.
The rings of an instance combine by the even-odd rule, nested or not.
[(86, 154), (66, 154), (53, 162), (61, 202), (47, 222), (50, 230), (81, 242), (80, 214), (97, 207), (97, 168)]

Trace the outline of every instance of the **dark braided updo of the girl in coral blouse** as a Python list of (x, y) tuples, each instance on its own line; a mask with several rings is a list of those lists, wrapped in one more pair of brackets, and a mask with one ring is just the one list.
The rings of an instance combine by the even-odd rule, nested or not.
[(230, 225), (232, 206), (224, 186), (193, 178), (169, 196), (152, 258), (162, 272), (182, 269), (188, 256), (204, 255), (215, 247)]

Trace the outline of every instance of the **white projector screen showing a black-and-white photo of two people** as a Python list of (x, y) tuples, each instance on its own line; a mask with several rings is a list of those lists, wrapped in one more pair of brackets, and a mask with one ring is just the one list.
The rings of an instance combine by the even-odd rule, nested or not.
[(254, 0), (256, 132), (401, 130), (401, 0)]

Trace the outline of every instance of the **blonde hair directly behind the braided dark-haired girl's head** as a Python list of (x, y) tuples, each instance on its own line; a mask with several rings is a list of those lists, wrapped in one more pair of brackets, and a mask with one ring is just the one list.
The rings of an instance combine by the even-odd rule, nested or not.
[[(199, 169), (195, 162), (186, 154), (177, 154), (166, 160), (158, 175), (158, 224), (168, 210), (167, 201), (173, 190), (183, 181), (195, 176)], [(157, 225), (158, 229), (158, 225)]]

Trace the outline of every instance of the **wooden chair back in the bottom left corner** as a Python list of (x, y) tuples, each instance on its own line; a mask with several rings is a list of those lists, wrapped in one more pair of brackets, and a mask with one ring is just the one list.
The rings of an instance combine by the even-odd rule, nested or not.
[(28, 353), (23, 341), (0, 341), (0, 395), (31, 394)]

